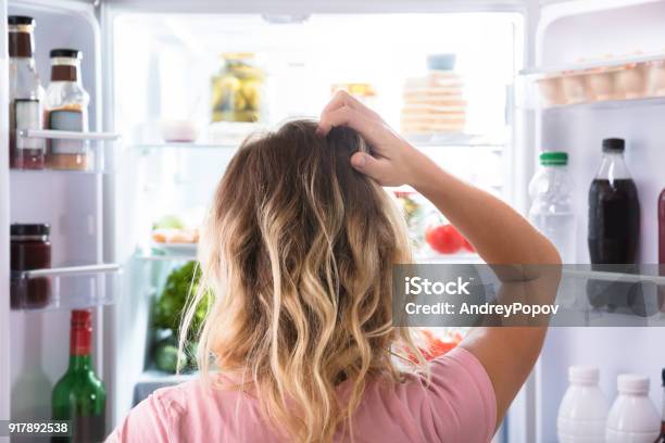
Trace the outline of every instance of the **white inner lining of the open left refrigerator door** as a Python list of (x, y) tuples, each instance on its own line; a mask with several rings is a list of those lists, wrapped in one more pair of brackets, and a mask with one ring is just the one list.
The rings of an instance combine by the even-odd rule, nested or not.
[[(83, 83), (90, 93), (89, 129), (101, 127), (100, 29), (91, 5), (85, 3), (13, 2), (8, 15), (35, 17), (35, 59), (42, 86), (50, 78), (49, 51), (52, 48), (78, 48)], [(2, 26), (4, 31), (5, 27)], [(101, 155), (101, 154), (100, 154)], [(100, 157), (101, 159), (101, 157)], [(90, 173), (54, 170), (14, 170), (9, 173), (10, 223), (48, 223), (51, 225), (53, 267), (95, 265), (103, 258), (102, 176)], [(68, 364), (70, 308), (85, 306), (95, 296), (104, 299), (105, 284), (90, 277), (62, 282), (62, 300), (39, 311), (10, 313), (11, 418), (49, 419), (51, 391)], [(55, 281), (55, 280), (53, 280)], [(98, 284), (101, 282), (101, 284)], [(90, 292), (88, 292), (90, 291)], [(95, 306), (92, 306), (95, 307)], [(102, 374), (101, 308), (93, 313), (93, 349), (97, 374)], [(3, 393), (4, 395), (4, 393)]]

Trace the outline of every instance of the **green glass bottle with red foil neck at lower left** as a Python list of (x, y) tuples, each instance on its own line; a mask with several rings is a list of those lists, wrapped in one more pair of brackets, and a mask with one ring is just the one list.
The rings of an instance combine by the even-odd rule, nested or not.
[(90, 311), (72, 311), (70, 367), (53, 388), (53, 420), (71, 420), (72, 436), (52, 442), (103, 442), (106, 391), (92, 370)]

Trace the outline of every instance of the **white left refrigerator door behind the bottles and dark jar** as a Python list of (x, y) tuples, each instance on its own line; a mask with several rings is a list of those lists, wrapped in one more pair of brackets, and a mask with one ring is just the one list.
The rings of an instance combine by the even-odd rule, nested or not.
[[(0, 419), (36, 420), (51, 417), (51, 390), (67, 367), (70, 309), (75, 305), (95, 307), (101, 303), (79, 300), (70, 304), (72, 300), (65, 295), (39, 312), (10, 311), (9, 224), (51, 225), (52, 265), (60, 268), (53, 269), (58, 276), (47, 277), (51, 282), (61, 281), (65, 288), (68, 283), (64, 280), (73, 275), (96, 274), (92, 268), (103, 263), (102, 174), (97, 167), (83, 173), (9, 168), (5, 137), (9, 125), (8, 14), (29, 15), (37, 22), (35, 59), (42, 86), (50, 78), (50, 49), (71, 47), (83, 51), (81, 78), (90, 94), (90, 132), (101, 130), (100, 29), (92, 1), (0, 1), (0, 293), (4, 299), (0, 306)], [(51, 137), (52, 134), (38, 136)], [(86, 135), (88, 139), (97, 136)], [(74, 265), (78, 267), (66, 267)], [(92, 268), (81, 268), (81, 265), (92, 265)], [(78, 282), (84, 283), (87, 278)], [(89, 278), (89, 284), (76, 288), (103, 299), (104, 293), (112, 293), (111, 288), (103, 288), (104, 281), (108, 279), (103, 277)], [(72, 280), (70, 283), (78, 284)], [(52, 295), (55, 291), (53, 289)], [(100, 332), (106, 328), (102, 309), (95, 309), (95, 366), (97, 374), (103, 377), (104, 343)]]

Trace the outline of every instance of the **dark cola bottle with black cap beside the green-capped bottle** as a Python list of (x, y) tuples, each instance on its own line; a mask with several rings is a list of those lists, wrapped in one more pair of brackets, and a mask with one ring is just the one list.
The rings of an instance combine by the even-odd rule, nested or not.
[[(601, 167), (589, 190), (588, 244), (592, 268), (633, 273), (640, 238), (637, 187), (624, 161), (625, 141), (603, 140)], [(587, 295), (593, 306), (630, 306), (641, 291), (635, 283), (590, 280)]]

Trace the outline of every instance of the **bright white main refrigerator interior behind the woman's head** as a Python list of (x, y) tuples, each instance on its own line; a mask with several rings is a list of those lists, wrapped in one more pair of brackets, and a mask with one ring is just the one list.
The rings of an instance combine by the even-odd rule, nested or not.
[[(466, 134), (421, 137), (414, 143), (453, 173), (512, 199), (520, 14), (117, 13), (110, 21), (113, 122), (124, 140), (113, 160), (114, 248), (125, 265), (123, 294), (114, 306), (115, 366), (108, 369), (118, 387), (116, 418), (138, 391), (173, 381), (152, 369), (150, 305), (165, 276), (195, 253), (155, 248), (151, 227), (170, 215), (198, 224), (239, 144), (241, 137), (226, 139), (223, 130), (219, 138), (210, 125), (211, 78), (219, 71), (221, 53), (254, 53), (266, 73), (267, 116), (259, 130), (289, 118), (316, 118), (331, 85), (340, 83), (371, 84), (377, 91), (372, 105), (399, 128), (405, 78), (425, 75), (428, 54), (455, 53), (468, 101)], [(184, 118), (197, 123), (197, 141), (165, 142), (164, 121)], [(134, 392), (137, 383), (141, 389)]]

